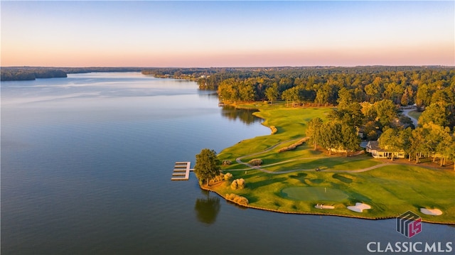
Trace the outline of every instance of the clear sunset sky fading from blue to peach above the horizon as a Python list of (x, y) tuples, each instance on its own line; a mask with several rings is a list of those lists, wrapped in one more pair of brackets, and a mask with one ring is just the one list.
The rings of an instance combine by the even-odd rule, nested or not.
[(454, 1), (1, 1), (1, 66), (455, 65)]

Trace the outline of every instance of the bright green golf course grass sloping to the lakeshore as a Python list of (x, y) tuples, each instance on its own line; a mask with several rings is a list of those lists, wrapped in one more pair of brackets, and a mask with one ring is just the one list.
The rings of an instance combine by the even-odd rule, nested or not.
[[(252, 207), (281, 212), (382, 218), (396, 217), (411, 210), (427, 222), (455, 224), (455, 171), (452, 166), (446, 170), (395, 163), (383, 166), (380, 165), (384, 164), (382, 161), (366, 155), (326, 156), (305, 143), (295, 151), (278, 153), (279, 148), (293, 143), (289, 140), (305, 136), (306, 121), (315, 116), (324, 119), (330, 108), (286, 108), (283, 104), (259, 104), (258, 108), (260, 112), (255, 114), (265, 119), (266, 126), (276, 126), (278, 132), (242, 141), (219, 154), (221, 160), (232, 161), (232, 165), (223, 166), (223, 170), (232, 173), (234, 179), (245, 179), (246, 183), (242, 190), (232, 190), (230, 181), (214, 185), (212, 189), (220, 195), (235, 193), (247, 197)], [(245, 170), (247, 166), (236, 163), (236, 158), (245, 163), (252, 158), (261, 158), (261, 168), (271, 173)], [(378, 165), (365, 172), (355, 172)], [(321, 171), (316, 172), (316, 167)], [(285, 172), (289, 170), (293, 171)], [(333, 205), (335, 209), (316, 209), (314, 205), (321, 202)], [(364, 202), (371, 209), (360, 213), (346, 208), (355, 202)], [(420, 212), (422, 207), (438, 208), (443, 214), (424, 215)]]

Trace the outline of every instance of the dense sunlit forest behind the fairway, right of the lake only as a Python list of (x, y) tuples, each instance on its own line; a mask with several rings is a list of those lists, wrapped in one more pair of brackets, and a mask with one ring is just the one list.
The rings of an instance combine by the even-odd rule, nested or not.
[(427, 109), (422, 116), (424, 120), (437, 117), (434, 123), (455, 126), (453, 67), (233, 70), (201, 77), (198, 84), (200, 89), (217, 89), (220, 100), (234, 103), (281, 99), (292, 107), (338, 106), (343, 109), (352, 103), (375, 104), (387, 99), (395, 105), (415, 104), (419, 111)]

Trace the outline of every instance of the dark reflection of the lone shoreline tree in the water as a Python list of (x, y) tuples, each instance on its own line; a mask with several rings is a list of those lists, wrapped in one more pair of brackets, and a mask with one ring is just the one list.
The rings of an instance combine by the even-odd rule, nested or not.
[(220, 212), (220, 197), (210, 197), (210, 192), (202, 190), (203, 194), (206, 195), (204, 198), (196, 199), (194, 210), (196, 210), (196, 217), (198, 221), (205, 224), (213, 224), (216, 221), (218, 212)]

